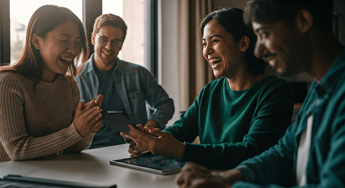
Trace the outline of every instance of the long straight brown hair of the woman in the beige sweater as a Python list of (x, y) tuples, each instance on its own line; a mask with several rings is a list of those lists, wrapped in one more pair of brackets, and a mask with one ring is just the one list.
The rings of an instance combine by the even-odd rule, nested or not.
[[(85, 62), (88, 60), (88, 41), (83, 24), (76, 14), (68, 8), (56, 5), (44, 5), (32, 14), (26, 32), (25, 46), (19, 60), (12, 66), (1, 66), (0, 72), (15, 71), (39, 82), (43, 75), (43, 60), (39, 50), (31, 43), (31, 37), (33, 34), (37, 34), (40, 38), (44, 38), (49, 31), (54, 30), (58, 25), (67, 21), (67, 19), (77, 24), (81, 44), (79, 55), (72, 61), (66, 74), (62, 76), (67, 79), (75, 78), (79, 70), (84, 67)], [(80, 66), (77, 67), (76, 63), (78, 62), (80, 62)], [(59, 75), (57, 74), (57, 76)]]

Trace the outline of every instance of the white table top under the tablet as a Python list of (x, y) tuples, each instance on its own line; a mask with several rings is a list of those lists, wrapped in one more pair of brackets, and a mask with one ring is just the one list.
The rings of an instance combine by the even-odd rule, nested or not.
[(0, 162), (0, 176), (27, 177), (83, 182), (118, 188), (176, 188), (175, 177), (110, 165), (109, 160), (128, 158), (128, 144), (60, 154), (25, 161)]

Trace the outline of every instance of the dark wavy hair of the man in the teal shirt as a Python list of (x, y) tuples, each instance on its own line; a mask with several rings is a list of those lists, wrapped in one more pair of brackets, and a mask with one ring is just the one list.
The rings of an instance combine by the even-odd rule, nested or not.
[(297, 12), (305, 9), (313, 14), (321, 29), (332, 32), (333, 6), (333, 0), (253, 0), (247, 2), (244, 20), (250, 27), (253, 21), (292, 23)]

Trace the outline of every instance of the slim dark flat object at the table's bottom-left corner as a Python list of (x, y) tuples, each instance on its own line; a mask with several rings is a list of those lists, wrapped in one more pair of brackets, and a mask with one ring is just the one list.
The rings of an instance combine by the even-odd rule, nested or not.
[(51, 179), (41, 179), (41, 178), (31, 178), (31, 177), (23, 177), (20, 175), (8, 175), (2, 176), (0, 179), (4, 180), (12, 180), (17, 182), (26, 182), (26, 183), (33, 183), (33, 184), (43, 184), (43, 185), (54, 185), (54, 186), (62, 186), (62, 187), (73, 187), (73, 188), (116, 188), (116, 185), (113, 186), (90, 186), (85, 184), (78, 184), (76, 182), (68, 182), (68, 181), (59, 181), (59, 180), (51, 180)]

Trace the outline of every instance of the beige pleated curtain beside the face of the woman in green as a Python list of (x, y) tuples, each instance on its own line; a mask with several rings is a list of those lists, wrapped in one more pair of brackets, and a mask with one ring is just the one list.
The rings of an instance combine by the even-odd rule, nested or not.
[(200, 90), (215, 79), (203, 56), (201, 20), (210, 13), (213, 0), (179, 0), (178, 76), (180, 112), (186, 111)]

